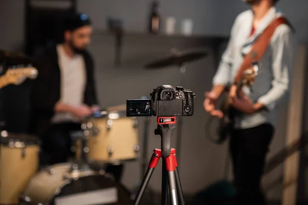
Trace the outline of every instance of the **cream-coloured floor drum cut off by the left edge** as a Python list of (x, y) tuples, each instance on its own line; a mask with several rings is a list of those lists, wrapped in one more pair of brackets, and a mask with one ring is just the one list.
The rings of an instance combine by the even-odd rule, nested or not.
[(38, 169), (39, 140), (25, 134), (1, 132), (0, 204), (18, 204)]

